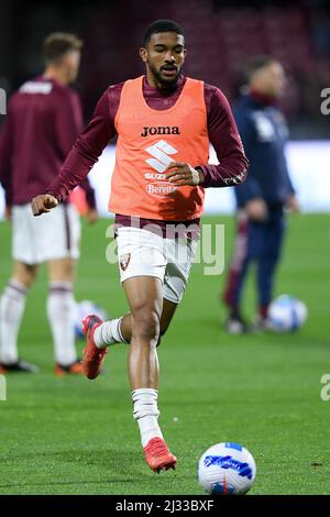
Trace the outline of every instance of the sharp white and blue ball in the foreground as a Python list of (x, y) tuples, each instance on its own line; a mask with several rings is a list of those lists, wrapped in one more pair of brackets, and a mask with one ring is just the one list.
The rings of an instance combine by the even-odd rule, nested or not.
[(255, 473), (252, 454), (238, 443), (217, 443), (198, 462), (199, 484), (211, 495), (246, 494)]

